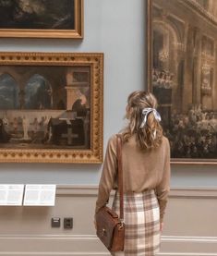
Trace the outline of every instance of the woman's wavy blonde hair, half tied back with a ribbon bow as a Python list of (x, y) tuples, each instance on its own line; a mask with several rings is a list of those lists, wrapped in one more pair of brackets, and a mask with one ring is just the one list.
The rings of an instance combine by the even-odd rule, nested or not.
[(136, 135), (136, 140), (142, 150), (154, 149), (160, 146), (163, 140), (163, 128), (155, 118), (153, 111), (147, 116), (144, 127), (140, 128), (144, 119), (142, 111), (144, 108), (157, 108), (157, 100), (146, 91), (133, 91), (127, 99), (127, 114), (129, 120), (127, 128), (123, 131), (123, 141)]

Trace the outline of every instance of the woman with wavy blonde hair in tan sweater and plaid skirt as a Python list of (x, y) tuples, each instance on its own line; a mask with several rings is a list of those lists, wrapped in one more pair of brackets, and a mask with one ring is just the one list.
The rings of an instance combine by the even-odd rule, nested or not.
[[(170, 146), (163, 136), (156, 98), (145, 91), (128, 96), (128, 126), (122, 131), (125, 250), (115, 256), (152, 256), (160, 249), (163, 214), (170, 182)], [(117, 189), (116, 136), (108, 141), (96, 213)], [(119, 195), (113, 207), (119, 213)]]

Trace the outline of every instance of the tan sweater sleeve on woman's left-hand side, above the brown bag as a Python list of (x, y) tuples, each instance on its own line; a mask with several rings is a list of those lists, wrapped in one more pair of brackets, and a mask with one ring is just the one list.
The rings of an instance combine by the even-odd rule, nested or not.
[(99, 183), (98, 198), (96, 201), (95, 213), (97, 213), (102, 206), (104, 206), (110, 196), (115, 182), (117, 172), (117, 158), (116, 158), (116, 137), (113, 136), (108, 141), (107, 150), (105, 153), (104, 163), (102, 167), (102, 175)]

